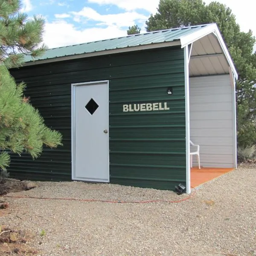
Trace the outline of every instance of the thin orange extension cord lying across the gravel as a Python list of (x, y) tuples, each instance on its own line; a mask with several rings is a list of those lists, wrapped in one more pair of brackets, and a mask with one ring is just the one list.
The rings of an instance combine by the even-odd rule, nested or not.
[(147, 201), (109, 201), (109, 200), (99, 200), (99, 199), (76, 199), (76, 198), (42, 198), (42, 197), (35, 197), (35, 196), (12, 196), (12, 195), (3, 195), (3, 197), (8, 198), (33, 198), (33, 199), (44, 199), (44, 200), (67, 200), (67, 201), (80, 201), (80, 202), (102, 202), (102, 203), (114, 203), (114, 204), (148, 204), (148, 203), (157, 203), (157, 202), (166, 202), (166, 203), (181, 203), (183, 201), (189, 200), (192, 198), (196, 193), (196, 190), (192, 192), (188, 197), (177, 200), (177, 201), (169, 201), (169, 200), (147, 200)]

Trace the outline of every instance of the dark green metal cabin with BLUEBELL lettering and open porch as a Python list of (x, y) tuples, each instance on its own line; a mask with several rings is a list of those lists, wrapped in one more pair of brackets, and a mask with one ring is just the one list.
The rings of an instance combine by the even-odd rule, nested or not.
[(216, 24), (49, 49), (12, 69), (63, 146), (12, 155), (12, 177), (190, 193), (201, 165), (236, 168), (237, 73)]

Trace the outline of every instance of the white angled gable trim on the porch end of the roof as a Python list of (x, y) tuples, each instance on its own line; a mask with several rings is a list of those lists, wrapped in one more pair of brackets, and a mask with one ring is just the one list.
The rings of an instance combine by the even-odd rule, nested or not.
[(236, 79), (238, 79), (238, 73), (236, 72), (236, 68), (233, 64), (232, 58), (228, 52), (226, 44), (224, 43), (224, 40), (221, 36), (218, 26), (215, 23), (205, 26), (204, 28), (202, 28), (194, 33), (191, 33), (190, 35), (184, 35), (184, 36), (180, 37), (181, 48), (203, 38), (206, 35), (209, 35), (210, 33), (213, 33), (217, 37), (219, 44), (223, 50), (223, 53), (224, 53), (225, 57), (227, 58), (228, 64), (230, 65)]

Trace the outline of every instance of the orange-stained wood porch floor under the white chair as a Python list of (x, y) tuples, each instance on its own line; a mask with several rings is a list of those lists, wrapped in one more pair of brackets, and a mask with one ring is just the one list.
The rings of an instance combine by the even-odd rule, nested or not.
[(190, 172), (190, 183), (192, 187), (199, 186), (206, 183), (209, 180), (213, 180), (221, 175), (224, 175), (227, 172), (233, 171), (234, 168), (205, 168), (198, 167), (191, 168)]

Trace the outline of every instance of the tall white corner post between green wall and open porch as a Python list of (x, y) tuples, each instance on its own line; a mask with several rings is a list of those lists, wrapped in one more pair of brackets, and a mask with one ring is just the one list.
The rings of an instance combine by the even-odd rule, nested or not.
[(186, 193), (191, 193), (190, 182), (190, 122), (189, 122), (189, 47), (184, 47), (185, 112), (186, 112)]

